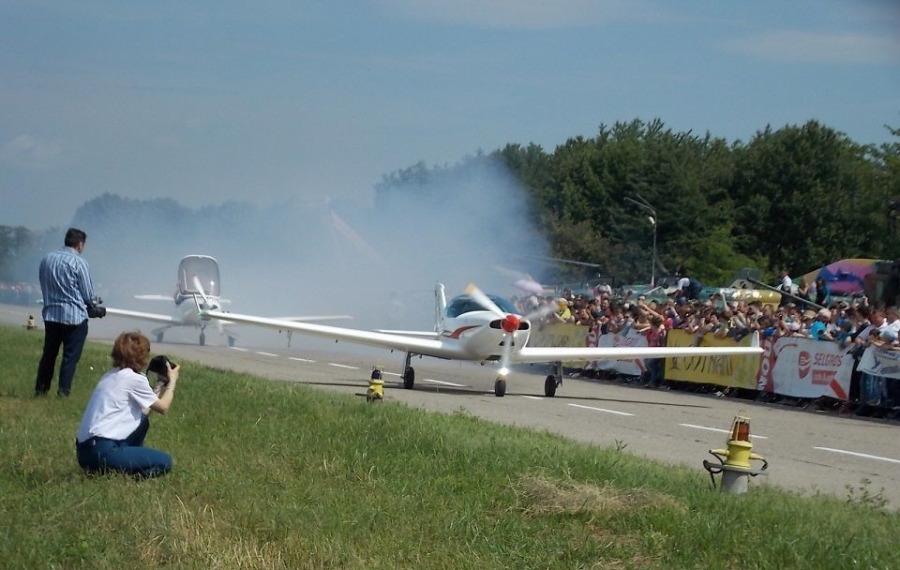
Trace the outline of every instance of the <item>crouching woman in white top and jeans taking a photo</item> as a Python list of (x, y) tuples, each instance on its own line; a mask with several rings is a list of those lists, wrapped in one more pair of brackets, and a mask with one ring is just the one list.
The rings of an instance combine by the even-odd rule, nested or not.
[(169, 454), (144, 447), (144, 438), (149, 411), (165, 414), (172, 404), (179, 367), (166, 364), (168, 383), (157, 394), (140, 373), (149, 359), (150, 341), (139, 332), (124, 332), (113, 344), (113, 369), (91, 394), (75, 438), (86, 472), (158, 477), (172, 469)]

